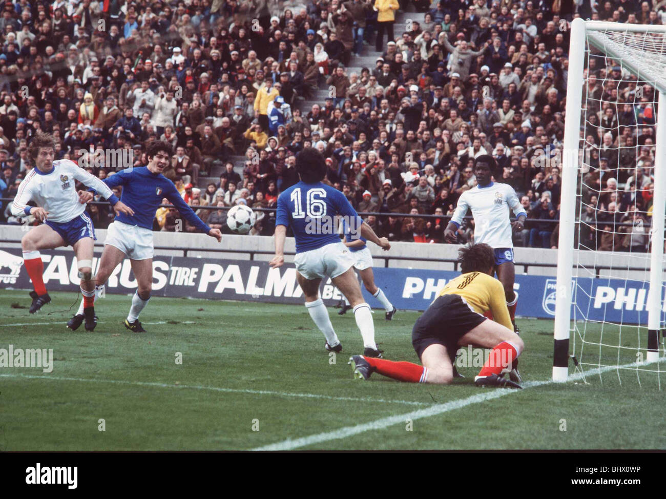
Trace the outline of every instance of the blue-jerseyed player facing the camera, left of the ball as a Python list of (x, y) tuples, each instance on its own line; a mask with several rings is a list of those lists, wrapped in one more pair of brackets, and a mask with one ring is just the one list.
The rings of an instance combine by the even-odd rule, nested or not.
[[(126, 256), (137, 278), (137, 292), (125, 319), (125, 327), (133, 332), (145, 332), (139, 322), (139, 313), (151, 297), (153, 285), (153, 219), (163, 199), (168, 199), (185, 219), (202, 233), (222, 241), (219, 229), (210, 229), (185, 203), (176, 186), (162, 172), (171, 161), (172, 148), (166, 142), (155, 142), (148, 149), (148, 166), (127, 169), (111, 175), (104, 183), (111, 187), (123, 186), (121, 201), (134, 210), (129, 217), (123, 213), (109, 225), (104, 251), (95, 276), (97, 296), (104, 283)], [(91, 195), (92, 197), (92, 195)], [(81, 307), (67, 327), (75, 330), (81, 325)]]

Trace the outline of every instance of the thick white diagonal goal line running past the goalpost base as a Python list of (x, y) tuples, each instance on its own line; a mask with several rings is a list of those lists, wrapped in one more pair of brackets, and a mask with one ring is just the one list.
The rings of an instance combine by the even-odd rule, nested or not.
[[(659, 359), (657, 362), (661, 362), (663, 359)], [(646, 365), (647, 362), (642, 363), (641, 365)], [(594, 368), (586, 372), (579, 372), (569, 376), (570, 381), (580, 380), (583, 376), (592, 376), (594, 374), (600, 374), (601, 372), (609, 370), (617, 370), (617, 368), (630, 368), (636, 367), (639, 364), (633, 362), (632, 364), (624, 364), (623, 366), (608, 366), (607, 368)], [(535, 388), (536, 386), (542, 386), (544, 384), (555, 383), (553, 380), (541, 380), (541, 381), (529, 381), (523, 384), (523, 388)], [(294, 450), (299, 447), (305, 447), (313, 444), (320, 444), (321, 442), (328, 442), (330, 440), (338, 440), (340, 438), (347, 438), (348, 436), (358, 435), (359, 433), (367, 432), (369, 430), (384, 430), (388, 426), (393, 426), (394, 424), (404, 424), (407, 419), (412, 421), (421, 419), (421, 418), (430, 418), (430, 416), (437, 416), (438, 414), (444, 414), (444, 412), (449, 412), (450, 410), (460, 409), (472, 404), (480, 404), (481, 402), (487, 402), (488, 400), (493, 400), (494, 398), (500, 398), (501, 396), (510, 395), (513, 393), (520, 393), (522, 390), (512, 390), (509, 388), (497, 388), (496, 390), (486, 391), (477, 395), (472, 395), (468, 398), (460, 398), (458, 400), (451, 400), (444, 404), (436, 404), (424, 409), (414, 410), (412, 412), (407, 412), (406, 414), (399, 414), (397, 416), (388, 416), (386, 418), (381, 418), (375, 421), (370, 421), (363, 424), (357, 424), (356, 426), (345, 426), (338, 430), (331, 432), (323, 432), (314, 435), (304, 436), (301, 438), (296, 438), (292, 440), (287, 438), (282, 440), (282, 442), (276, 442), (274, 444), (268, 444), (262, 447), (257, 447), (250, 450)]]

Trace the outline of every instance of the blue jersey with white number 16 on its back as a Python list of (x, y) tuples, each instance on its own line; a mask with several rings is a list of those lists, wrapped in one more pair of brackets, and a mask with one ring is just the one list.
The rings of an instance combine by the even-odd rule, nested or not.
[(342, 220), (357, 229), (362, 223), (344, 194), (330, 185), (299, 182), (278, 197), (275, 225), (292, 228), (297, 253), (340, 243), (338, 223)]

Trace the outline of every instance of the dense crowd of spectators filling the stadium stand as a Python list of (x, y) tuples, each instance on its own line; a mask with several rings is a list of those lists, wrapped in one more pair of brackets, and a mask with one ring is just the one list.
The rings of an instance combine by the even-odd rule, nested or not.
[[(57, 159), (78, 161), (91, 147), (127, 149), (135, 166), (161, 140), (174, 149), (166, 177), (193, 207), (220, 207), (197, 213), (228, 232), (224, 207), (275, 207), (298, 181), (295, 155), (316, 147), (329, 167), (324, 181), (358, 212), (377, 213), (366, 220), (379, 235), (441, 243), (458, 197), (476, 185), (474, 158), (490, 154), (496, 181), (510, 184), (528, 213), (515, 244), (557, 247), (566, 21), (661, 24), (665, 3), (7, 1), (0, 16), (2, 197), (11, 199), (31, 169), (27, 142), (35, 131), (57, 137)], [(414, 10), (424, 21), (394, 33), (396, 13)], [(376, 55), (376, 63), (350, 73), (359, 53)], [(645, 251), (653, 91), (603, 57), (587, 64), (586, 92), (597, 109), (588, 109), (584, 134), (590, 170), (581, 243)], [(329, 87), (334, 97), (300, 109), (302, 99)], [(641, 99), (637, 88), (645, 89)], [(234, 171), (240, 156), (242, 174)], [(91, 162), (89, 171), (103, 179), (115, 169)], [(202, 180), (213, 171), (222, 174)], [(3, 203), (1, 221), (24, 222), (11, 216), (10, 204)], [(89, 209), (98, 228), (113, 219), (108, 206)], [(172, 231), (178, 218), (159, 209), (154, 228)], [(459, 241), (470, 241), (473, 230), (473, 221), (464, 223)], [(252, 234), (273, 231), (273, 213), (258, 212)]]

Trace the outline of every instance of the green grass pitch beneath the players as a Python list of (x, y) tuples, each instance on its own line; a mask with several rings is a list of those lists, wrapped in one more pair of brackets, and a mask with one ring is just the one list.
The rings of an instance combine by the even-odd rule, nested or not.
[[(0, 450), (248, 450), (286, 440), (298, 450), (666, 448), (666, 376), (611, 370), (587, 383), (529, 386), (551, 376), (551, 320), (518, 320), (527, 388), (482, 400), (494, 390), (474, 386), (478, 368), (460, 369), (466, 378), (450, 386), (353, 380), (347, 360), (362, 342), (350, 312), (330, 309), (344, 346), (332, 359), (303, 306), (156, 297), (141, 316), (148, 332), (134, 334), (121, 324), (129, 296), (107, 295), (89, 333), (65, 328), (71, 312), (47, 315), (75, 298), (56, 292), (31, 316), (12, 306), (28, 305), (27, 291), (0, 293), (0, 348), (53, 348), (55, 358), (51, 373), (0, 368)], [(387, 322), (375, 310), (386, 358), (418, 361), (410, 336), (418, 315)], [(634, 362), (631, 340), (623, 330), (629, 348), (619, 358), (603, 349), (604, 361)], [(606, 327), (603, 342), (617, 341)], [(599, 348), (585, 346), (583, 356), (597, 362)], [(450, 410), (427, 413), (447, 402)]]

